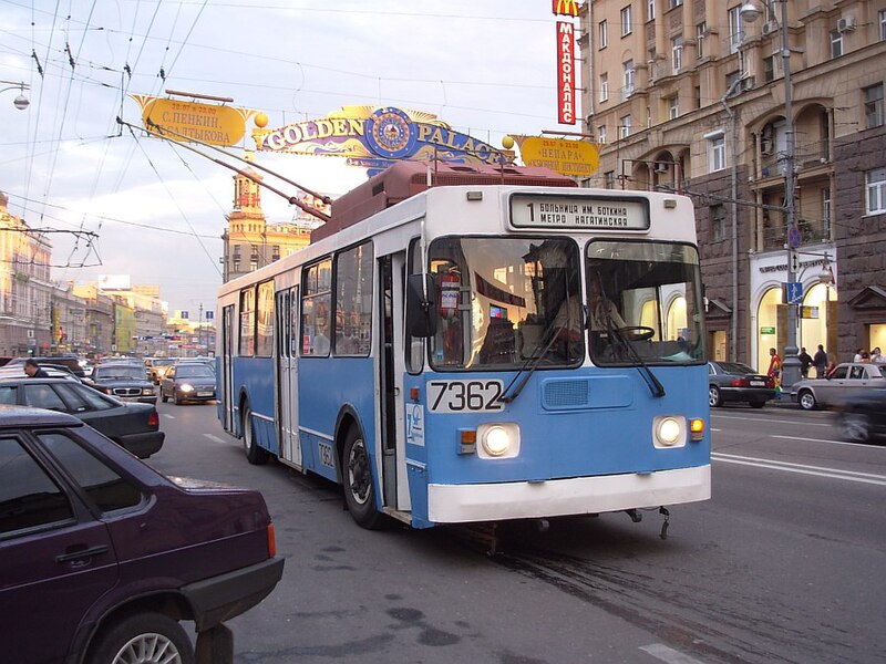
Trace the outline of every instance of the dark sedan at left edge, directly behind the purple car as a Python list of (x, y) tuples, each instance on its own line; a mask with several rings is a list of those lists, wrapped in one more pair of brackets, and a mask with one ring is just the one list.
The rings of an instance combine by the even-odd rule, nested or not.
[(166, 437), (152, 404), (126, 404), (64, 378), (0, 378), (0, 404), (70, 413), (143, 459), (159, 452)]

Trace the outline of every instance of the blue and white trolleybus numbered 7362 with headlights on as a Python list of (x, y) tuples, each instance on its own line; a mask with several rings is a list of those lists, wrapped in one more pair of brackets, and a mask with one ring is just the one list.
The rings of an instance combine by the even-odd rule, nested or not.
[(219, 417), (247, 459), (340, 483), (367, 528), (708, 499), (691, 201), (509, 168), (390, 205), (425, 177), (398, 166), (222, 287)]

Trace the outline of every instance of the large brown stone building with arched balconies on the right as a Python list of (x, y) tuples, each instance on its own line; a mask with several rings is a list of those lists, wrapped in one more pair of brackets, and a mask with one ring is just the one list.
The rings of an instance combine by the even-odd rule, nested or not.
[(692, 197), (711, 359), (783, 353), (789, 260), (797, 345), (886, 346), (886, 0), (755, 0), (754, 22), (745, 4), (585, 3), (586, 184)]

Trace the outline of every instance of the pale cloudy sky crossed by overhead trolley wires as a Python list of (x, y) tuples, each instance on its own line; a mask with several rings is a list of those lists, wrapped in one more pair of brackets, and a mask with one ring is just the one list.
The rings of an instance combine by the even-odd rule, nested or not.
[[(234, 174), (181, 146), (121, 134), (117, 116), (141, 124), (126, 94), (229, 96), (264, 111), (269, 128), (346, 105), (414, 108), (497, 147), (509, 133), (577, 131), (557, 124), (550, 7), (0, 0), (0, 79), (31, 86), (23, 112), (12, 104), (16, 91), (0, 94), (0, 190), (32, 228), (97, 234), (92, 243), (48, 236), (53, 279), (131, 274), (133, 283), (158, 283), (171, 313), (214, 309)], [(365, 179), (336, 157), (257, 158), (333, 197)], [(267, 190), (262, 204), (269, 222), (293, 217)]]

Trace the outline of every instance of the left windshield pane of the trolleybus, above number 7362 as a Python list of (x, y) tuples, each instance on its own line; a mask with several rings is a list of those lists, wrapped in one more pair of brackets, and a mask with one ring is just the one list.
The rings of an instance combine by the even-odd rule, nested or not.
[(431, 243), (437, 333), (431, 364), (514, 370), (584, 357), (579, 253), (568, 238), (440, 238)]

